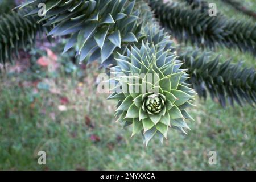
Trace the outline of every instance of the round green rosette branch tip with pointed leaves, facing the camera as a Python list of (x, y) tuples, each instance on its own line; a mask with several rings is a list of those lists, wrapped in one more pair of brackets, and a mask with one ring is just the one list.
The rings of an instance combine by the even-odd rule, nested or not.
[(163, 142), (170, 127), (185, 133), (184, 128), (189, 129), (185, 121), (192, 119), (185, 109), (193, 106), (196, 93), (184, 82), (187, 69), (180, 68), (176, 55), (146, 42), (116, 60), (110, 82), (116, 85), (113, 90), (122, 89), (112, 90), (109, 98), (118, 100), (115, 116), (124, 126), (133, 126), (132, 136), (141, 132), (147, 146), (154, 135)]

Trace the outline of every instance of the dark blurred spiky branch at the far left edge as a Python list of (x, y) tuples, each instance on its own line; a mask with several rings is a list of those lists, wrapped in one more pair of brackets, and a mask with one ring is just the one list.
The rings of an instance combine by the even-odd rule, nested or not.
[(47, 32), (42, 24), (37, 24), (37, 18), (26, 16), (31, 9), (23, 9), (18, 12), (11, 11), (3, 14), (0, 19), (0, 63), (13, 59), (13, 53), (19, 55), (19, 49), (27, 48), (28, 44), (34, 44), (36, 35)]

